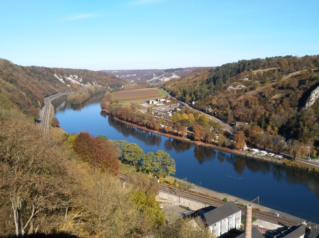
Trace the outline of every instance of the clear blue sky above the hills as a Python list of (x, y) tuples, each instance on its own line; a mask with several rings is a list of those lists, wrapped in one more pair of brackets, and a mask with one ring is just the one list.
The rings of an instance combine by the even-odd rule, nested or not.
[(0, 0), (0, 58), (115, 70), (316, 55), (318, 12), (318, 0)]

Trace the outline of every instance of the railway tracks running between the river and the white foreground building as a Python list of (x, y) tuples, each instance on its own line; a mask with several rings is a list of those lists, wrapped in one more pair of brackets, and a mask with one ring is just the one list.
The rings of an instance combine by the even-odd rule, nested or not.
[[(119, 173), (118, 176), (120, 178), (127, 178), (128, 177), (124, 173)], [(130, 176), (130, 177), (136, 178), (134, 176)], [(161, 185), (161, 184), (159, 185), (159, 191), (167, 193), (167, 194), (173, 194), (174, 196), (179, 196), (179, 197), (189, 199), (189, 200), (192, 200), (195, 202), (200, 202), (200, 203), (203, 203), (203, 204), (208, 205), (208, 206), (211, 205), (211, 206), (219, 207), (219, 206), (223, 206), (224, 204), (226, 204), (226, 202), (224, 202), (224, 201), (220, 201), (220, 200), (213, 199), (213, 198), (208, 198), (208, 197), (198, 195), (198, 194), (195, 194), (192, 192), (183, 191), (183, 190), (176, 189), (176, 188), (171, 188), (171, 187)], [(241, 207), (241, 206), (238, 206), (238, 207), (241, 209), (241, 214), (245, 215), (246, 208)], [(300, 222), (297, 222), (297, 221), (293, 221), (293, 220), (286, 219), (283, 217), (278, 217), (278, 216), (275, 216), (275, 215), (272, 215), (269, 213), (260, 212), (257, 210), (253, 210), (252, 215), (254, 217), (256, 217), (257, 219), (261, 219), (263, 221), (269, 221), (272, 223), (286, 225), (286, 226), (297, 226), (298, 224), (300, 224)]]

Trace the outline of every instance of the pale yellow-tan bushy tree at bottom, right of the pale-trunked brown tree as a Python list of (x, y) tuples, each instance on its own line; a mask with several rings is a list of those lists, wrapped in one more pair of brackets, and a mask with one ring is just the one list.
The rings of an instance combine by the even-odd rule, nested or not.
[(61, 219), (61, 229), (78, 237), (131, 237), (139, 226), (137, 205), (130, 188), (108, 173), (87, 164), (77, 168), (78, 189)]

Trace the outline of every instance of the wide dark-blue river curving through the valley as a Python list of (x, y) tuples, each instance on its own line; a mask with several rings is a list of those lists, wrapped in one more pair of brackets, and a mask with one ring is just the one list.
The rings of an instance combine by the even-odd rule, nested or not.
[(52, 102), (60, 127), (68, 133), (83, 130), (93, 136), (137, 143), (145, 153), (164, 150), (174, 158), (177, 178), (217, 192), (319, 223), (319, 174), (281, 164), (222, 152), (160, 136), (119, 122), (101, 111), (104, 94), (71, 106), (62, 96)]

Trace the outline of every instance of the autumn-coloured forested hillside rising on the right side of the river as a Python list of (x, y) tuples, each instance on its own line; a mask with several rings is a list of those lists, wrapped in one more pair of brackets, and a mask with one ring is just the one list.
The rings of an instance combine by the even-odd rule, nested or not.
[[(258, 126), (272, 141), (292, 140), (319, 151), (319, 102), (305, 107), (319, 86), (319, 56), (239, 60), (165, 82), (173, 96), (226, 123)], [(235, 131), (234, 131), (235, 132)], [(254, 141), (247, 141), (254, 145)]]

